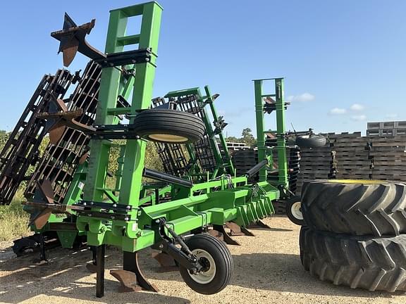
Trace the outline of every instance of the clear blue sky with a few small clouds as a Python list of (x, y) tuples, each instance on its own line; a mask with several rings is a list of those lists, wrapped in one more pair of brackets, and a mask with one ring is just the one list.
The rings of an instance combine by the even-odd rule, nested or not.
[[(5, 1), (0, 18), (0, 129), (11, 130), (42, 75), (62, 67), (66, 11), (96, 18), (103, 50), (109, 10), (139, 1)], [(209, 84), (227, 134), (254, 130), (252, 79), (285, 77), (287, 127), (364, 132), (367, 121), (406, 120), (406, 1), (180, 1), (164, 6), (154, 96)], [(137, 30), (134, 30), (134, 33)], [(69, 69), (85, 66), (78, 55)], [(267, 127), (273, 128), (269, 117)]]

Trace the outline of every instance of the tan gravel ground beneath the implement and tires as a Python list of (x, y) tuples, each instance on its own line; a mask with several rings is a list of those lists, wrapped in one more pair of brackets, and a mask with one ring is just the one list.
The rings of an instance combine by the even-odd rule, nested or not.
[(193, 292), (178, 272), (158, 273), (157, 263), (144, 251), (144, 274), (159, 293), (118, 293), (109, 270), (122, 267), (121, 253), (109, 248), (104, 298), (96, 298), (95, 274), (85, 268), (90, 251), (49, 251), (50, 265), (35, 265), (34, 256), (16, 258), (0, 243), (1, 303), (406, 303), (402, 293), (353, 290), (319, 281), (300, 264), (299, 227), (285, 217), (265, 222), (272, 229), (252, 229), (256, 236), (236, 236), (242, 246), (229, 246), (235, 263), (230, 285), (212, 296)]

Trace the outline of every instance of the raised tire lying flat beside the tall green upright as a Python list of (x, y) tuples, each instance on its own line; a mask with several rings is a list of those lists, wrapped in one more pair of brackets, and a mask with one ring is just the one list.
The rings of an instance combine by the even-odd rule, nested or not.
[(133, 123), (140, 137), (167, 144), (189, 144), (204, 136), (201, 118), (191, 113), (168, 109), (151, 109), (139, 113)]

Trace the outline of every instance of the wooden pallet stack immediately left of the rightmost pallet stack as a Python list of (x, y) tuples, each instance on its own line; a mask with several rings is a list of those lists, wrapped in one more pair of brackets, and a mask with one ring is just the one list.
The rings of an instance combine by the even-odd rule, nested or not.
[(361, 132), (336, 134), (333, 150), (336, 151), (338, 179), (370, 179), (371, 160), (369, 159), (369, 138)]

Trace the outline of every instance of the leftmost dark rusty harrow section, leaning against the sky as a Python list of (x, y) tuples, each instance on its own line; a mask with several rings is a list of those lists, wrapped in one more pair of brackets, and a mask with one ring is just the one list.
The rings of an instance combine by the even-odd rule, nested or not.
[(58, 70), (56, 75), (45, 75), (39, 82), (0, 153), (0, 205), (11, 203), (20, 183), (30, 178), (26, 176), (28, 168), (39, 160), (39, 145), (48, 125), (37, 114), (50, 110), (51, 101), (63, 99), (75, 80), (67, 70)]

